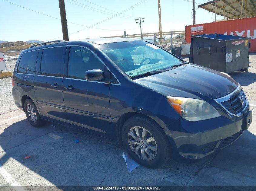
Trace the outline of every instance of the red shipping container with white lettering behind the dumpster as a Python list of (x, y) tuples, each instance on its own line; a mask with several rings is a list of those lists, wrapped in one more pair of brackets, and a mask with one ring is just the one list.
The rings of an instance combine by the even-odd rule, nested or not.
[(219, 33), (250, 37), (251, 48), (249, 51), (256, 52), (256, 17), (185, 26), (187, 43), (191, 43), (191, 35), (204, 33)]

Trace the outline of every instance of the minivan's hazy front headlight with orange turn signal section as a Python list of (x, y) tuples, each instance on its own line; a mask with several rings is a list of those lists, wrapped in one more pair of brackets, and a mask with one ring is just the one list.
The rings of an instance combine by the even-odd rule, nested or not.
[(173, 109), (188, 121), (201, 121), (221, 116), (214, 107), (203, 100), (185, 97), (166, 97)]

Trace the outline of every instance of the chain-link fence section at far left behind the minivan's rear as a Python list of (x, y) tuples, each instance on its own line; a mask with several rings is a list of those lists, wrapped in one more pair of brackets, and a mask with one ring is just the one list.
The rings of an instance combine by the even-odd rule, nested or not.
[(0, 72), (0, 107), (14, 104), (12, 73), (21, 51), (4, 52), (6, 70)]

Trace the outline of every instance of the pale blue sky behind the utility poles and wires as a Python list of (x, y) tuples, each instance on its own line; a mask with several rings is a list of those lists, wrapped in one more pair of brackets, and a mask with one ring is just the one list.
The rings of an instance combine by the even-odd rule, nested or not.
[[(196, 24), (214, 21), (213, 13), (197, 8), (205, 2), (208, 0), (195, 0)], [(0, 0), (0, 3), (0, 40), (63, 39), (58, 0)], [(65, 0), (65, 8), (69, 40), (118, 36), (124, 30), (129, 35), (138, 34), (140, 26), (135, 21), (138, 18), (144, 18), (142, 33), (159, 31), (157, 0)], [(216, 20), (223, 18), (216, 16)], [(185, 25), (193, 24), (192, 0), (161, 0), (161, 21), (163, 32), (185, 30)]]

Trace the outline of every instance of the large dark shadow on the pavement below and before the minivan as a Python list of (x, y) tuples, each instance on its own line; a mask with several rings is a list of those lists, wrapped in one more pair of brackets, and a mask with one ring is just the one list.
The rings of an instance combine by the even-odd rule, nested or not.
[(197, 163), (171, 160), (131, 173), (121, 157), (123, 148), (63, 126), (35, 128), (24, 119), (4, 129), (0, 145), (5, 151), (0, 164), (25, 185), (256, 185), (256, 137), (249, 131)]

